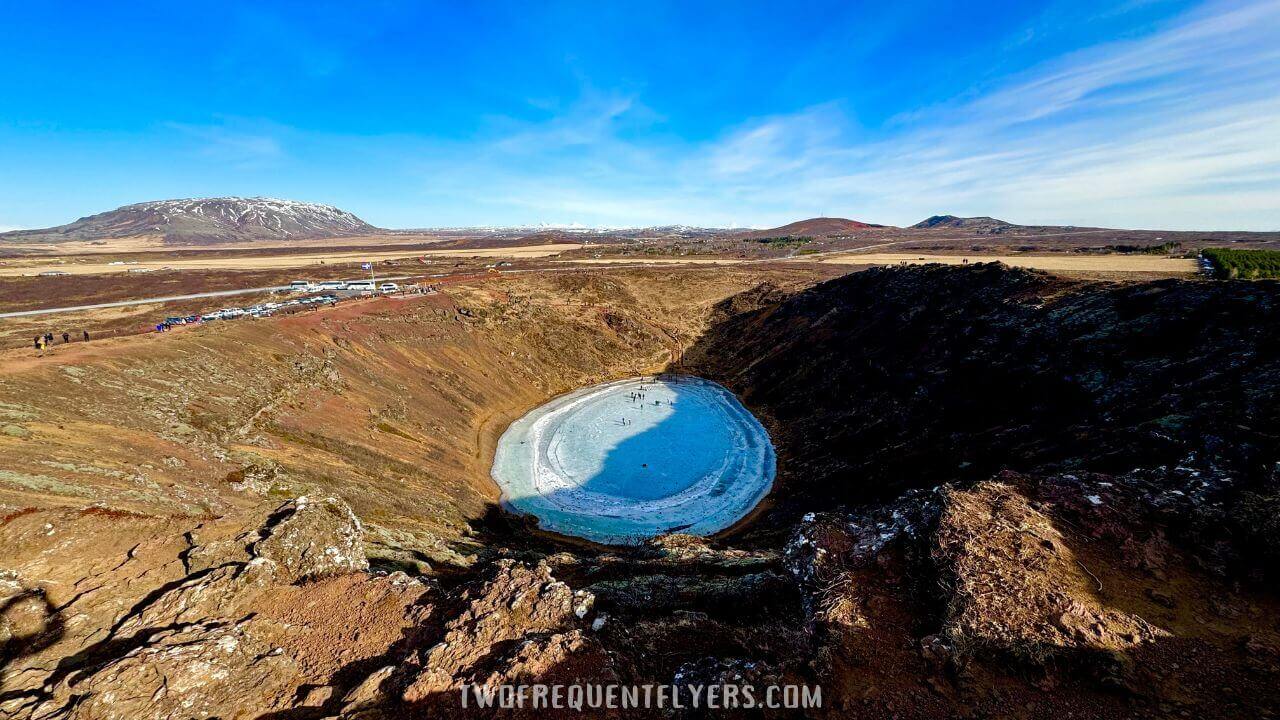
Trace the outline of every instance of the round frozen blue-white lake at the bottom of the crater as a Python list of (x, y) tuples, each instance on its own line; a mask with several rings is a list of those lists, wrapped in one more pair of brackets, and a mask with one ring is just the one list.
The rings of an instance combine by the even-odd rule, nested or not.
[(539, 527), (609, 544), (710, 534), (773, 486), (773, 443), (717, 383), (689, 375), (582, 388), (530, 411), (498, 441), (493, 479)]

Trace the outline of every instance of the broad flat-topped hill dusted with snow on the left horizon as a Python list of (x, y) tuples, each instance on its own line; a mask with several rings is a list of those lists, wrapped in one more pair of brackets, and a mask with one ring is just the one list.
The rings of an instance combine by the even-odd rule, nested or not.
[(173, 245), (342, 237), (378, 228), (332, 205), (270, 197), (206, 197), (137, 202), (0, 241), (65, 242), (160, 236)]

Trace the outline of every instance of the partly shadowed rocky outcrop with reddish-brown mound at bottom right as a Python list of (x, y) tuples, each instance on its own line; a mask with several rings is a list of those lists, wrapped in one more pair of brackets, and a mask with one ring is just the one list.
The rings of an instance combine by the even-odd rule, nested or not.
[[(922, 716), (1051, 716), (1046, 694), (1139, 715), (1198, 693), (1249, 698), (1187, 706), (1230, 717), (1274, 698), (1277, 670), (1257, 639), (1270, 629), (1253, 630), (1252, 646), (1203, 635), (1212, 616), (1261, 619), (1260, 601), (1208, 582), (1170, 544), (1166, 523), (1184, 516), (1164, 514), (1172, 498), (1151, 491), (1121, 477), (1004, 473), (806, 515), (786, 561), (805, 593), (812, 671), (837, 707), (873, 693), (881, 710)], [(1011, 674), (1029, 684), (1007, 685)]]

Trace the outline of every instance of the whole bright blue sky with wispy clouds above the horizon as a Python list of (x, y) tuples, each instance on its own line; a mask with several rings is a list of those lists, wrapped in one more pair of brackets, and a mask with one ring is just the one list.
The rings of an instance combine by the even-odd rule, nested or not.
[(1280, 229), (1280, 0), (0, 0), (0, 228), (934, 213)]

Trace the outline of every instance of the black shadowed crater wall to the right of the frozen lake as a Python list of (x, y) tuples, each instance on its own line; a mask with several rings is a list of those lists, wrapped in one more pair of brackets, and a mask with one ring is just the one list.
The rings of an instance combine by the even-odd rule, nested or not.
[(1265, 429), (1280, 424), (1280, 354), (1260, 331), (1280, 323), (1274, 286), (1083, 283), (988, 263), (735, 304), (685, 361), (765, 421), (787, 521), (1006, 468), (1194, 457), (1247, 489), (1280, 456)]

